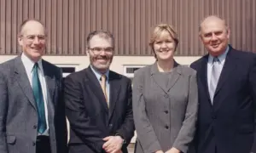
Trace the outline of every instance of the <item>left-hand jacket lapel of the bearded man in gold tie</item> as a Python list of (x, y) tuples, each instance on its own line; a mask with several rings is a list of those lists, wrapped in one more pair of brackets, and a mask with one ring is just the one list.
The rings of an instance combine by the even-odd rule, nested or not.
[(96, 98), (99, 99), (99, 102), (104, 108), (104, 110), (108, 112), (108, 104), (103, 94), (102, 87), (100, 85), (100, 82), (97, 80), (95, 74), (90, 69), (90, 66), (85, 70), (85, 73), (88, 77), (88, 80), (86, 81), (86, 83), (91, 88), (91, 91), (94, 91), (93, 93), (96, 95)]

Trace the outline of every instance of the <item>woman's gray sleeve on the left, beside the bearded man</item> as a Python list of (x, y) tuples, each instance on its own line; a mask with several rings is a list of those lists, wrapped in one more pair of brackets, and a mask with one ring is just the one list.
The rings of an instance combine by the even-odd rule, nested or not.
[(132, 107), (137, 137), (142, 144), (144, 152), (152, 153), (162, 149), (146, 113), (145, 100), (143, 98), (143, 79), (143, 75), (135, 73), (133, 80)]

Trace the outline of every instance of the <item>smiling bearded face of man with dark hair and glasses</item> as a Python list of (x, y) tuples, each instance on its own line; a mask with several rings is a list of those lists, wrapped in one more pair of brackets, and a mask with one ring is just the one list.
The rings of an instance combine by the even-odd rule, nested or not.
[(105, 73), (113, 60), (113, 42), (110, 37), (101, 37), (96, 35), (90, 39), (90, 48), (88, 54), (90, 64), (97, 71)]

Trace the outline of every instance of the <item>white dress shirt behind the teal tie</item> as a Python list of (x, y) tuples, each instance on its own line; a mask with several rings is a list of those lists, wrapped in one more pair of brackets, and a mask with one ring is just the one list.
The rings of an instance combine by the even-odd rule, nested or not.
[[(35, 65), (35, 62), (33, 62), (31, 59), (29, 59), (26, 54), (21, 54), (21, 61), (23, 65), (25, 66), (26, 69), (26, 75), (28, 77), (28, 80), (31, 84), (32, 87), (32, 69), (33, 66)], [(38, 135), (46, 135), (49, 136), (49, 122), (48, 122), (48, 108), (47, 108), (47, 85), (44, 77), (44, 70), (43, 70), (43, 65), (42, 65), (42, 59), (38, 60), (38, 77), (41, 83), (42, 87), (42, 92), (43, 92), (43, 97), (44, 97), (44, 112), (45, 112), (45, 120), (46, 120), (46, 130), (44, 133), (38, 133)]]

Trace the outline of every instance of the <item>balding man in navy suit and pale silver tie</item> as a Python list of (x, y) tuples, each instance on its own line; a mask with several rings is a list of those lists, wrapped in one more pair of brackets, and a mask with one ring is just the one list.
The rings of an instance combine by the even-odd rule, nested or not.
[(224, 20), (209, 16), (200, 37), (208, 54), (190, 66), (199, 88), (197, 153), (249, 153), (253, 145), (256, 102), (256, 56), (228, 42)]

